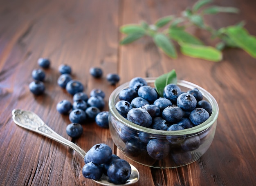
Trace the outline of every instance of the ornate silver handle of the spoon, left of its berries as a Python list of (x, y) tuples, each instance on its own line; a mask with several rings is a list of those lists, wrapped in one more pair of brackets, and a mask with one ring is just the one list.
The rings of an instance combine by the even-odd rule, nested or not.
[(82, 148), (54, 132), (35, 113), (21, 109), (14, 109), (12, 111), (12, 119), (18, 126), (49, 137), (50, 139), (55, 140), (56, 142), (59, 142), (61, 144), (67, 145), (74, 151), (79, 153), (83, 158), (85, 157), (86, 152)]

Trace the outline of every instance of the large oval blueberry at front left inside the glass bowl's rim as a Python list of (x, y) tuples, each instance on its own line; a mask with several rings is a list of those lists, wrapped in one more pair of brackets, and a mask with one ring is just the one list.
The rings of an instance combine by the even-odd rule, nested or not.
[(133, 108), (127, 114), (127, 119), (130, 122), (140, 126), (149, 127), (152, 124), (152, 117), (144, 109)]

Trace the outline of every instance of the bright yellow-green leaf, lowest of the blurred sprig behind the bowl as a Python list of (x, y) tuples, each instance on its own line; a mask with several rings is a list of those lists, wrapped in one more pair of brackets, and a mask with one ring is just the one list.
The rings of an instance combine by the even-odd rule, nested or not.
[(180, 50), (184, 55), (189, 55), (193, 58), (201, 58), (204, 60), (218, 62), (222, 60), (221, 51), (211, 46), (193, 45), (193, 44), (180, 44)]

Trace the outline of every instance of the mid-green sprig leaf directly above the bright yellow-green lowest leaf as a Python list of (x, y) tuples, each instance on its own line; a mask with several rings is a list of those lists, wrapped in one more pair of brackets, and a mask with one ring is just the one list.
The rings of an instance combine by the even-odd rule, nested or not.
[(169, 28), (169, 37), (177, 42), (184, 42), (184, 43), (188, 43), (188, 44), (199, 44), (199, 45), (203, 44), (195, 36), (184, 31), (183, 29), (179, 29), (177, 27)]

